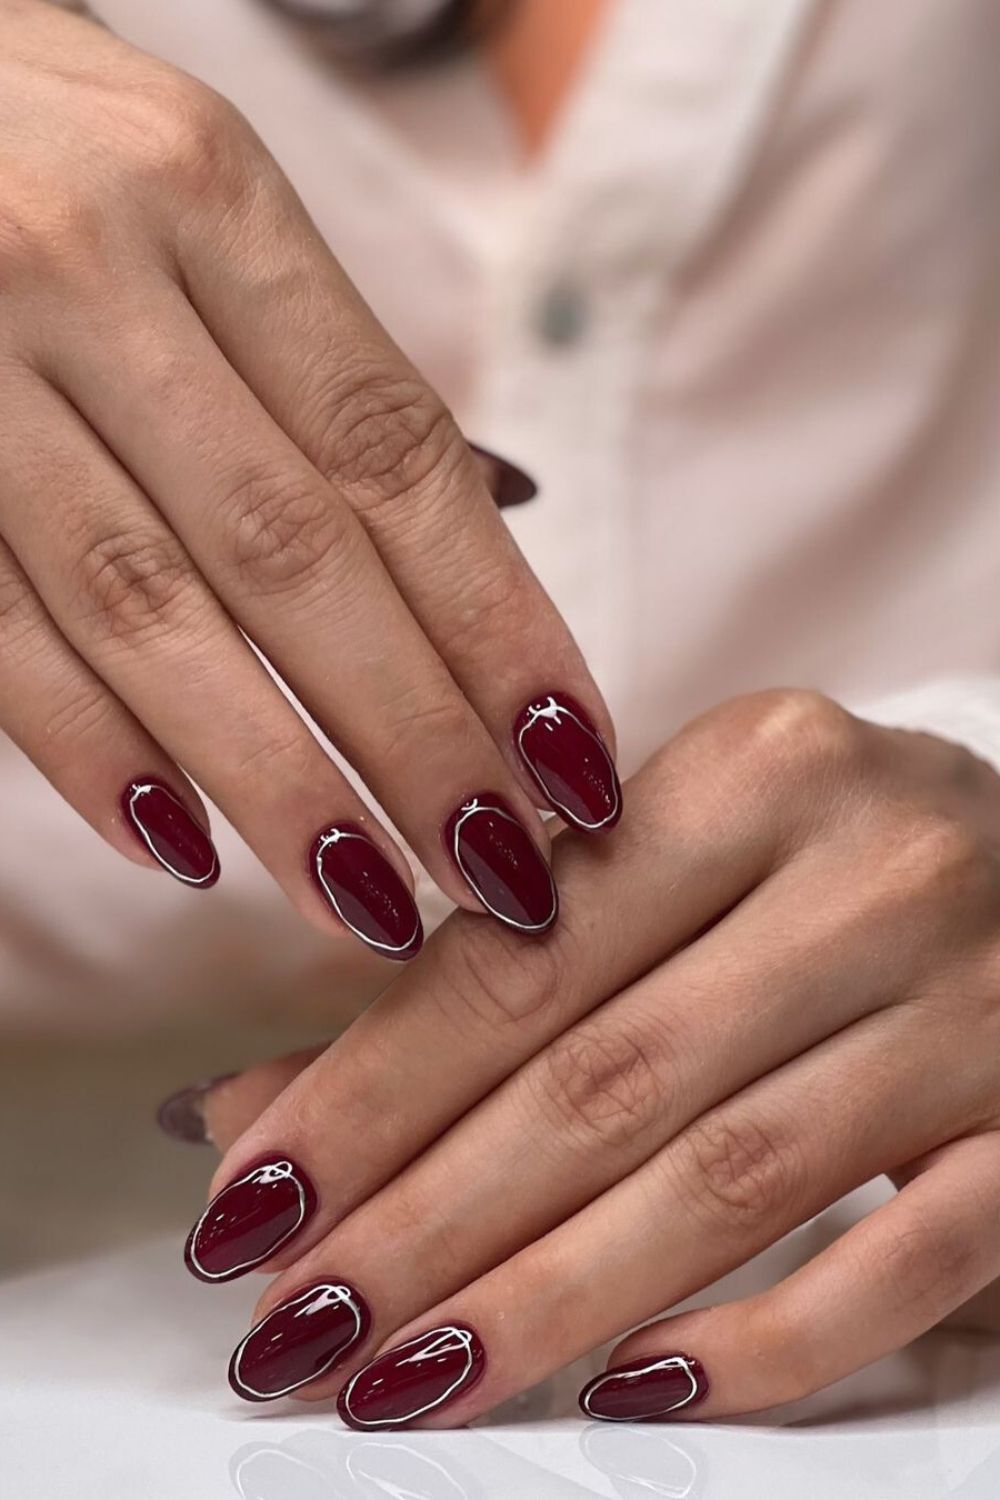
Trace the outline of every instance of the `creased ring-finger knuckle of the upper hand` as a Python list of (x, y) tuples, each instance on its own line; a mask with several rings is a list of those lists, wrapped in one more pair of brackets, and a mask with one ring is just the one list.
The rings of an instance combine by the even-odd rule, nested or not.
[(193, 602), (190, 564), (166, 532), (106, 532), (90, 542), (75, 566), (82, 622), (99, 638), (141, 645), (163, 626), (186, 618)]

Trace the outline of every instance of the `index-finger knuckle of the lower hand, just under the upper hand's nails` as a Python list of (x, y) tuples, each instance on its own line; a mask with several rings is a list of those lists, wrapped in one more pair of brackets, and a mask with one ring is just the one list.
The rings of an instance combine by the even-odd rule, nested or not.
[(516, 1046), (525, 1024), (558, 1002), (564, 969), (573, 972), (558, 951), (565, 934), (514, 952), (507, 934), (481, 916), (468, 914), (468, 921), (459, 920), (451, 930), (456, 936), (438, 992), (450, 1022), (471, 1017), (477, 1030), (490, 1036), (511, 1032)]

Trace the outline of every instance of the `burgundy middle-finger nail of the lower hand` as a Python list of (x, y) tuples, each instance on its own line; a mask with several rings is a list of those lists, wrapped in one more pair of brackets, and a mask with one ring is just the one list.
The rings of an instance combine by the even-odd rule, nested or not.
[(367, 1338), (369, 1305), (354, 1287), (321, 1281), (297, 1292), (250, 1329), (229, 1360), (244, 1401), (274, 1401), (328, 1374)]

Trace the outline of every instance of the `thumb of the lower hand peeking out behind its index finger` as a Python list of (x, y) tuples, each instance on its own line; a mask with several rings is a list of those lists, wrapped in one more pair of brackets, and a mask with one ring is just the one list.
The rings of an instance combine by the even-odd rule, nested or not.
[(156, 1122), (165, 1136), (184, 1144), (226, 1150), (322, 1050), (304, 1047), (243, 1072), (189, 1083), (163, 1100)]

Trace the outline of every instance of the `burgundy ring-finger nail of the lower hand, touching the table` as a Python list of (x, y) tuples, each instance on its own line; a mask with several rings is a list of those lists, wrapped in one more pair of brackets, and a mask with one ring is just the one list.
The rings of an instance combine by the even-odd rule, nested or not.
[(403, 1426), (471, 1390), (484, 1371), (478, 1334), (462, 1323), (432, 1328), (352, 1376), (337, 1398), (337, 1412), (361, 1431)]

